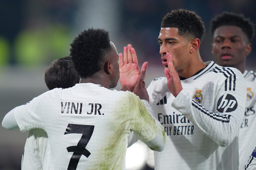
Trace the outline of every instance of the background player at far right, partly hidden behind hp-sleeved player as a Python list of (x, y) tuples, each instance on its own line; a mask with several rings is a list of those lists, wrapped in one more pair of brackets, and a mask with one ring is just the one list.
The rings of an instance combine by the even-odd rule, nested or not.
[(246, 56), (252, 49), (254, 24), (242, 14), (223, 12), (211, 22), (212, 54), (221, 66), (237, 68), (244, 76), (247, 88), (244, 119), (239, 131), (239, 169), (243, 169), (255, 147), (256, 137), (256, 74), (245, 70)]

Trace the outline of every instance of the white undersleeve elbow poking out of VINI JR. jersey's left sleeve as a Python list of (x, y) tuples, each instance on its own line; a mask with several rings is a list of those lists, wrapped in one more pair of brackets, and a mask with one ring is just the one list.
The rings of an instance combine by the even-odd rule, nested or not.
[(14, 117), (14, 112), (15, 112), (15, 109), (12, 109), (10, 112), (8, 112), (3, 121), (2, 121), (2, 127), (3, 128), (6, 128), (7, 130), (15, 130), (15, 129), (18, 129), (19, 126), (16, 122), (16, 119)]

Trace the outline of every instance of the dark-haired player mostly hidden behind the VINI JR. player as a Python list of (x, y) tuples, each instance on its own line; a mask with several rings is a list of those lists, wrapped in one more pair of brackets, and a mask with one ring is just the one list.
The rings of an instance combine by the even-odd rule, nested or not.
[[(79, 83), (77, 74), (70, 56), (54, 60), (45, 70), (44, 80), (49, 90), (54, 88), (69, 88)], [(46, 169), (49, 147), (47, 133), (39, 128), (29, 130), (24, 147), (21, 164), (23, 170)], [(49, 148), (48, 148), (49, 149)]]

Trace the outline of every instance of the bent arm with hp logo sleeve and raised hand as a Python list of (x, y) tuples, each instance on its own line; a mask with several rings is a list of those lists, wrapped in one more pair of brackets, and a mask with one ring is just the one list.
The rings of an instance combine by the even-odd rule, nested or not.
[[(167, 87), (176, 97), (172, 107), (181, 112), (196, 127), (200, 128), (209, 138), (220, 146), (229, 145), (237, 135), (243, 120), (246, 102), (245, 82), (242, 74), (237, 71), (235, 91), (224, 90), (225, 80), (222, 78), (216, 89), (214, 109), (205, 108), (191, 99), (182, 89), (178, 75), (173, 67), (171, 56), (167, 53), (168, 69), (165, 69)], [(184, 107), (184, 103), (186, 107)], [(233, 109), (234, 108), (234, 109)]]

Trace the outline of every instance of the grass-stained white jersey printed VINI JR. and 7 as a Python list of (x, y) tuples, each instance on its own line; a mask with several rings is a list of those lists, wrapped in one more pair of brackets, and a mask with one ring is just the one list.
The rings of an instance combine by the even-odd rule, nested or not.
[(21, 131), (47, 132), (54, 170), (124, 169), (130, 131), (144, 142), (165, 137), (139, 97), (92, 83), (50, 90), (13, 112)]

